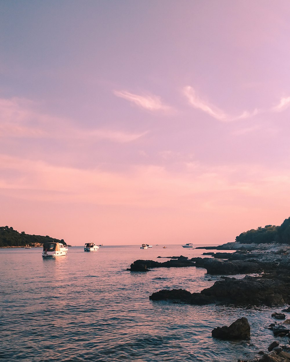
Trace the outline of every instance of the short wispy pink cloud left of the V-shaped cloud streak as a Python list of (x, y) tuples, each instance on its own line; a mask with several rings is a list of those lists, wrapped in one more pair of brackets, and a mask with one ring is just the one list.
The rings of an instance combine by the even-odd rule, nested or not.
[(138, 94), (129, 93), (126, 90), (114, 90), (115, 96), (124, 98), (125, 100), (136, 104), (138, 107), (150, 111), (169, 111), (170, 106), (164, 104), (158, 96), (140, 96)]

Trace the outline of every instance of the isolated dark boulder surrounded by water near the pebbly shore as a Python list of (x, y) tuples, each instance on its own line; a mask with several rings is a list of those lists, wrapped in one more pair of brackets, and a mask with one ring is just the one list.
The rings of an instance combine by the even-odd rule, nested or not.
[(223, 340), (249, 339), (250, 325), (248, 319), (242, 317), (233, 322), (229, 327), (224, 326), (213, 329), (211, 334), (212, 337)]

